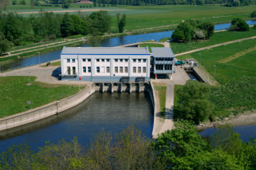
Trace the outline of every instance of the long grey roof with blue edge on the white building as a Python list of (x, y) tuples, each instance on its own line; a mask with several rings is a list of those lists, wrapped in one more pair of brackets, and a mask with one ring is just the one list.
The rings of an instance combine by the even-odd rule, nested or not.
[(150, 55), (148, 48), (137, 47), (66, 47), (61, 55)]

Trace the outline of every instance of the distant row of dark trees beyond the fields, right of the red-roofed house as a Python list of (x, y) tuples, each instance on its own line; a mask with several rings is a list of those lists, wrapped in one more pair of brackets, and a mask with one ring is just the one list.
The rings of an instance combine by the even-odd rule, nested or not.
[(116, 5), (204, 5), (219, 3), (225, 6), (255, 5), (254, 0), (93, 0), (94, 6)]

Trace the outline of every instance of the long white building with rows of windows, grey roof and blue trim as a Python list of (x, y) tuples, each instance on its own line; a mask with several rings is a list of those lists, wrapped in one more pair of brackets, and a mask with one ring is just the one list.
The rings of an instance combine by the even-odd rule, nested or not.
[(148, 48), (63, 47), (61, 76), (76, 81), (149, 81), (150, 53)]

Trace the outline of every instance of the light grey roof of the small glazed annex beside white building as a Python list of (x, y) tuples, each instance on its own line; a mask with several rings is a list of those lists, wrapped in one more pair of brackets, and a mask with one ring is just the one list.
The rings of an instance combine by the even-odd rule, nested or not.
[(175, 58), (175, 55), (172, 52), (172, 49), (169, 47), (151, 47), (152, 56), (161, 57), (161, 58)]

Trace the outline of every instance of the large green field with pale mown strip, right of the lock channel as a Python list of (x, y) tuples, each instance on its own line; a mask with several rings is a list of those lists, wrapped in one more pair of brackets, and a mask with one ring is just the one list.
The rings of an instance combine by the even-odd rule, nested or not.
[(255, 45), (256, 39), (250, 39), (177, 57), (200, 61), (201, 53), (202, 65), (213, 77), (216, 66), (216, 80), (221, 87), (212, 88), (210, 99), (218, 117), (256, 109)]

